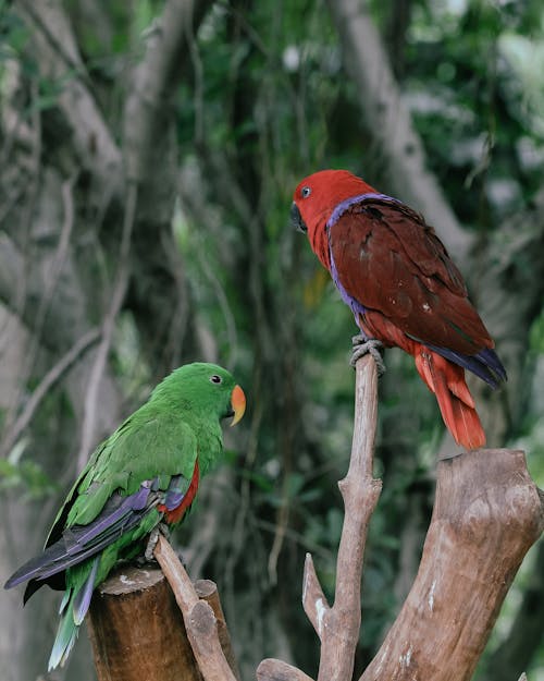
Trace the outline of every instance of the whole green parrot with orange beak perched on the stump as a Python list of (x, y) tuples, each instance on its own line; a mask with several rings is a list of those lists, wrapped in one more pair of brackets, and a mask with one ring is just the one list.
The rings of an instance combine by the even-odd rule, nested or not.
[(228, 372), (188, 364), (164, 378), (97, 447), (57, 514), (44, 552), (4, 585), (28, 581), (24, 603), (44, 584), (64, 589), (49, 670), (66, 660), (92, 591), (116, 560), (141, 552), (160, 524), (183, 519), (200, 476), (222, 453), (220, 419), (233, 416), (234, 425), (245, 409), (244, 391)]

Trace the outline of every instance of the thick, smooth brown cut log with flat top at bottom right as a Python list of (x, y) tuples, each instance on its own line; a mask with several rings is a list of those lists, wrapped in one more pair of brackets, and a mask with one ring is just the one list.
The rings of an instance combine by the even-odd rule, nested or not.
[(521, 451), (477, 450), (438, 463), (418, 575), (360, 681), (471, 678), (523, 556), (544, 528), (541, 495)]

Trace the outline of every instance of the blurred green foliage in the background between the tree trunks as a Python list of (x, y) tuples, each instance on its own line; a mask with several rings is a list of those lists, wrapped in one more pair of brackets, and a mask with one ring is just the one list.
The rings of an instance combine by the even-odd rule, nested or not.
[[(111, 34), (106, 46), (92, 24), (78, 21), (79, 3), (64, 4), (72, 12), (97, 101), (111, 119), (114, 137), (121, 138), (123, 77), (127, 64), (141, 58), (163, 3), (108, 4)], [(527, 210), (542, 190), (542, 2), (369, 4), (424, 143), (428, 166), (485, 251), (494, 239), (505, 238), (498, 230), (508, 217)], [(400, 12), (400, 5), (408, 11)], [(51, 114), (74, 72), (60, 80), (39, 75), (25, 49), (28, 32), (5, 1), (0, 2), (0, 92), (9, 87), (9, 65), (16, 61), (37, 92), (33, 97), (26, 92), (27, 117), (37, 111)], [(252, 448), (226, 452), (236, 478), (221, 488), (230, 514), (217, 537), (210, 572), (225, 592), (235, 593), (233, 600), (246, 605), (243, 599), (258, 592), (248, 611), (283, 608), (287, 635), (302, 632), (294, 653), (309, 669), (317, 657), (313, 633), (302, 624), (298, 599), (289, 600), (286, 612), (282, 598), (298, 593), (307, 550), (316, 555), (327, 596), (334, 596), (343, 521), (336, 481), (345, 473), (350, 450), (354, 373), (347, 361), (356, 327), (307, 240), (292, 231), (288, 208), (298, 180), (320, 168), (348, 168), (383, 191), (388, 191), (390, 180), (372, 131), (361, 121), (359, 93), (344, 71), (342, 45), (323, 1), (222, 0), (212, 4), (193, 47), (189, 74), (173, 101), (182, 180), (171, 223), (183, 264), (184, 296), (190, 302), (185, 323), (197, 338), (197, 349), (186, 343), (178, 352), (183, 361), (197, 358), (193, 354), (198, 341), (213, 339), (219, 360), (235, 369), (248, 392), (245, 423), (251, 428), (247, 442)], [(436, 229), (440, 233), (438, 224)], [(114, 262), (116, 252), (107, 256)], [(512, 266), (526, 268), (522, 262)], [(478, 267), (473, 269), (466, 273), (478, 296)], [(543, 485), (544, 311), (531, 326), (527, 355), (527, 394), (520, 399), (528, 409), (511, 424), (505, 445), (530, 452), (532, 475)], [(154, 378), (153, 361), (143, 349), (134, 311), (123, 311), (112, 365), (127, 406), (146, 398)], [(386, 363), (376, 449), (376, 474), (384, 478), (384, 489), (366, 557), (360, 664), (379, 646), (417, 569), (443, 435), (435, 401), (412, 361), (387, 351)], [(0, 462), (2, 489), (16, 486), (32, 498), (57, 494), (57, 484), (35, 452), (39, 435), (54, 440), (52, 430), (70, 418), (69, 414), (63, 421), (57, 411), (70, 412), (67, 404), (59, 404), (63, 399), (39, 412), (25, 451), (21, 445)], [(289, 414), (289, 399), (299, 412)], [(240, 508), (246, 514), (237, 523)], [(288, 526), (276, 586), (265, 575), (285, 509)], [(196, 527), (200, 513), (199, 508), (191, 519)], [(408, 533), (417, 539), (406, 568), (400, 552)], [(231, 563), (238, 573), (228, 581)], [(531, 561), (524, 570), (530, 572)], [(521, 573), (511, 591), (492, 647), (507, 635), (524, 579)], [(282, 585), (285, 596), (277, 592)], [(228, 599), (226, 605), (228, 616)], [(242, 655), (251, 654), (249, 645), (239, 646)], [(530, 680), (542, 681), (544, 645), (532, 666)], [(481, 673), (478, 678), (484, 678), (485, 660)]]

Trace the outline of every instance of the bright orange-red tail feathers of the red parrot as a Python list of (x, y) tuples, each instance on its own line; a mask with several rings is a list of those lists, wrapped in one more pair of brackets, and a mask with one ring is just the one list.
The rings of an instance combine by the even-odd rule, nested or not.
[(465, 382), (465, 370), (428, 348), (415, 345), (419, 375), (436, 396), (444, 423), (455, 441), (467, 449), (483, 447), (485, 433)]

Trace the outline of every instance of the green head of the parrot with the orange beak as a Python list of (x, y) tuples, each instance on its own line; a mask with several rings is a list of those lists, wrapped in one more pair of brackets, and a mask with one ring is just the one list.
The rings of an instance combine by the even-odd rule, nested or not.
[(152, 402), (206, 416), (233, 416), (238, 423), (246, 411), (246, 396), (233, 376), (217, 364), (195, 362), (175, 369), (153, 390)]

